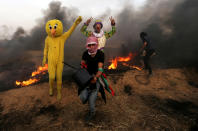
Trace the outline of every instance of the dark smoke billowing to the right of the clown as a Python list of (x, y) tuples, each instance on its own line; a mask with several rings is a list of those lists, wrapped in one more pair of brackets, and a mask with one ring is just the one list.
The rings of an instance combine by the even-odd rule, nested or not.
[[(130, 51), (138, 51), (142, 42), (139, 33), (145, 31), (157, 51), (156, 65), (165, 67), (198, 65), (198, 1), (148, 0), (139, 11), (127, 4), (117, 15), (117, 33), (112, 43), (119, 41)], [(121, 44), (122, 43), (122, 44)]]

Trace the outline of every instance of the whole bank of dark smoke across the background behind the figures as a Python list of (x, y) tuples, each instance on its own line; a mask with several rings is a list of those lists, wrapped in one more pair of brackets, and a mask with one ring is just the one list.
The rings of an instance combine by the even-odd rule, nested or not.
[[(106, 54), (116, 56), (121, 55), (122, 52), (126, 55), (128, 52), (138, 51), (142, 45), (139, 33), (145, 31), (151, 37), (152, 46), (157, 51), (158, 55), (154, 58), (157, 65), (196, 65), (196, 52), (198, 51), (196, 42), (198, 33), (197, 7), (197, 0), (147, 0), (146, 4), (137, 11), (130, 3), (124, 3), (123, 10), (114, 16), (117, 32), (107, 41)], [(109, 9), (106, 12), (100, 16), (92, 17), (101, 18), (105, 21), (103, 21), (104, 23), (108, 23), (112, 12)], [(11, 40), (0, 41), (0, 48), (3, 50), (0, 53), (0, 60), (23, 55), (28, 50), (43, 50), (44, 39), (47, 36), (45, 23), (48, 20), (55, 18), (61, 20), (66, 31), (80, 15), (78, 9), (68, 8), (57, 1), (51, 2), (43, 14), (43, 18), (37, 21), (38, 24), (30, 33), (19, 27)], [(82, 48), (74, 53), (78, 59), (85, 45), (85, 37), (80, 33), (80, 27), (85, 21), (86, 19), (83, 19), (65, 45), (65, 50), (67, 48), (75, 50), (75, 47)], [(110, 29), (110, 24), (108, 26), (107, 28)], [(108, 50), (108, 48), (112, 49)], [(121, 53), (117, 53), (115, 50), (120, 50)], [(70, 58), (68, 53), (67, 50), (66, 59)]]

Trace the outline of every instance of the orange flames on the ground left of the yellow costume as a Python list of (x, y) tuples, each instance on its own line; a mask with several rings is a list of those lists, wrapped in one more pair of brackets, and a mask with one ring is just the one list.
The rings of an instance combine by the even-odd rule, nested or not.
[[(47, 64), (45, 64), (44, 67), (39, 66), (36, 71), (32, 72), (32, 77), (35, 77), (38, 74), (46, 74), (45, 71), (47, 71), (47, 69), (48, 69)], [(31, 84), (34, 84), (34, 83), (38, 82), (39, 80), (40, 79), (37, 79), (37, 78), (30, 78), (27, 81), (22, 81), (22, 82), (16, 81), (16, 85), (17, 86), (28, 86), (28, 85), (31, 85)]]

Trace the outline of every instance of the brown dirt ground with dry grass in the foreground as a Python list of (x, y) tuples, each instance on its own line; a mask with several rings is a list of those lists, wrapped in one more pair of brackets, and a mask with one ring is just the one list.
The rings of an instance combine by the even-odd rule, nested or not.
[(65, 80), (62, 100), (48, 95), (48, 83), (0, 93), (0, 130), (198, 130), (198, 72), (193, 68), (129, 70), (109, 74), (115, 96), (105, 104), (98, 94), (96, 116), (87, 124), (88, 104)]

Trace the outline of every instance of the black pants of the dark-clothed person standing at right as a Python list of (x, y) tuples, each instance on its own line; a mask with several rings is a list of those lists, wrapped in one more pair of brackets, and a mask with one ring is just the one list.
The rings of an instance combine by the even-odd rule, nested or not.
[(149, 71), (149, 75), (152, 74), (152, 69), (151, 69), (151, 65), (150, 65), (150, 57), (151, 55), (155, 52), (154, 49), (151, 50), (146, 50), (146, 55), (144, 56), (144, 67), (146, 70)]

